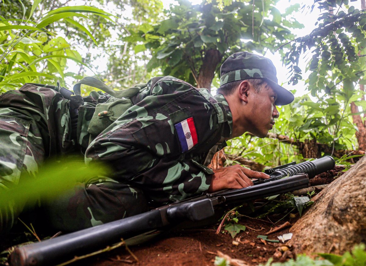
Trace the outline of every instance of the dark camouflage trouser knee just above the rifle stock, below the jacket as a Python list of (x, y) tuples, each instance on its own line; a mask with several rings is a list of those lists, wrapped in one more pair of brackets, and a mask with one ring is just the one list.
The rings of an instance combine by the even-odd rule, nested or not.
[(149, 210), (140, 189), (118, 182), (78, 183), (51, 202), (42, 214), (59, 231), (76, 231)]

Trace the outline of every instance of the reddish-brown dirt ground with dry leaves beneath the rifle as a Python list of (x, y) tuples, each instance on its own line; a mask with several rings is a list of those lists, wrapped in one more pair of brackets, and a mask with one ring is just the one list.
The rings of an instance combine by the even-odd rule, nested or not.
[[(342, 167), (337, 166), (328, 173), (313, 178), (311, 185), (329, 184), (342, 169)], [(239, 213), (242, 212), (239, 210)], [(197, 229), (164, 232), (148, 243), (129, 246), (130, 252), (122, 246), (113, 251), (74, 262), (71, 265), (213, 266), (217, 252), (222, 252), (233, 259), (240, 259), (247, 265), (265, 264), (270, 257), (273, 257), (274, 261), (285, 261), (295, 256), (291, 252), (291, 247), (285, 246), (285, 243), (272, 243), (257, 237), (258, 235), (267, 235), (270, 240), (278, 240), (277, 236), (288, 233), (291, 224), (299, 218), (299, 214), (294, 212), (281, 219), (284, 215), (284, 213), (277, 213), (263, 219), (240, 217), (239, 224), (245, 225), (246, 230), (241, 231), (234, 239), (223, 229), (219, 234), (216, 234), (218, 221), (213, 225)], [(278, 221), (279, 219), (281, 220)], [(266, 234), (270, 229), (287, 222), (290, 225), (284, 229)], [(8, 241), (5, 239), (0, 240), (1, 250), (9, 246), (7, 243)], [(289, 250), (286, 251), (287, 249)]]

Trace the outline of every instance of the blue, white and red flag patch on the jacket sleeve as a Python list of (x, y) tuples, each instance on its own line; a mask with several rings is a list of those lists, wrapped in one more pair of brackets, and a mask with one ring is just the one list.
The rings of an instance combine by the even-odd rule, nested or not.
[(194, 126), (193, 117), (179, 122), (174, 125), (178, 133), (182, 153), (193, 148), (198, 143), (196, 127)]

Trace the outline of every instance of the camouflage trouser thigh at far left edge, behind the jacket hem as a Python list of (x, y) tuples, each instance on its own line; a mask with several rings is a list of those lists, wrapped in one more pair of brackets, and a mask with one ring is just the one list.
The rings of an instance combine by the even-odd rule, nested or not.
[[(1, 114), (11, 110), (0, 109)], [(9, 189), (23, 180), (35, 178), (44, 160), (44, 148), (36, 123), (25, 115), (0, 115), (0, 196), (1, 190)], [(4, 199), (6, 200), (6, 199)], [(34, 200), (33, 200), (34, 201)], [(0, 209), (0, 233), (6, 232), (16, 222), (25, 206), (34, 202), (8, 202)]]

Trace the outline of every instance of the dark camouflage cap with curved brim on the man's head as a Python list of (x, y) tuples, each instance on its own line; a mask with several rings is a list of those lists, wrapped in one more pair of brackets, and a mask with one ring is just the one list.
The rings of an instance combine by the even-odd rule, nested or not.
[(277, 72), (272, 61), (249, 52), (237, 52), (225, 60), (220, 68), (220, 86), (237, 80), (263, 78), (277, 93), (276, 105), (289, 104), (294, 95), (277, 84)]

